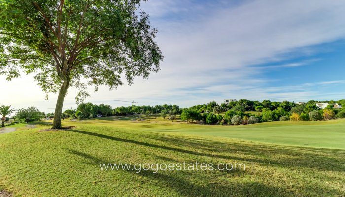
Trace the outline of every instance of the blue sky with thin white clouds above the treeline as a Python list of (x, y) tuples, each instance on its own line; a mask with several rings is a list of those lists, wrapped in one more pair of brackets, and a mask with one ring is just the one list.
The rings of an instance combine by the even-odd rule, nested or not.
[[(159, 30), (161, 70), (117, 90), (90, 87), (86, 101), (187, 107), (227, 98), (345, 99), (344, 0), (148, 0), (140, 9)], [(55, 106), (57, 96), (44, 101), (32, 76), (12, 82), (0, 76), (0, 83), (11, 93), (0, 104)], [(70, 89), (66, 108), (76, 106), (75, 95)]]

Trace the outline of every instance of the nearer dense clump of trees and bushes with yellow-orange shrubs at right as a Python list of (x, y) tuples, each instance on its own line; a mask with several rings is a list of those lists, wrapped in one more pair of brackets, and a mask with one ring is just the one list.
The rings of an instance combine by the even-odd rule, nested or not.
[[(329, 104), (345, 104), (345, 99), (338, 101), (315, 101), (296, 104), (294, 102), (271, 102), (270, 100), (251, 101), (241, 99), (239, 101), (222, 103), (218, 105), (212, 101), (204, 105), (195, 105), (183, 110), (182, 120), (203, 121), (206, 124), (253, 124), (258, 122), (287, 121), (287, 120), (330, 120), (334, 117), (345, 118), (344, 109), (335, 109), (328, 105), (325, 109), (316, 106), (316, 103), (328, 102)], [(254, 111), (255, 110), (255, 111)], [(223, 116), (220, 115), (223, 113)]]

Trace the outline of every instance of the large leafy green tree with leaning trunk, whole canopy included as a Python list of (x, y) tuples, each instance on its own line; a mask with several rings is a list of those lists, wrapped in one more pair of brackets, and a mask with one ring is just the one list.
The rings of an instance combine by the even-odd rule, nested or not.
[[(145, 0), (144, 0), (145, 1)], [(47, 93), (58, 93), (53, 129), (61, 127), (69, 87), (131, 84), (147, 78), (163, 60), (140, 0), (0, 0), (0, 74), (36, 73)]]

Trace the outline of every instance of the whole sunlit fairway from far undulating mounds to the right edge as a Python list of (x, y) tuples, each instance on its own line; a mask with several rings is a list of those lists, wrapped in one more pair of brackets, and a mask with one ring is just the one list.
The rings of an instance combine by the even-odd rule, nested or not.
[[(230, 137), (283, 145), (345, 149), (345, 119), (331, 121), (276, 121), (252, 125), (220, 126), (195, 123), (186, 124), (180, 121), (172, 122), (154, 116), (142, 116), (141, 118), (146, 121), (130, 121), (133, 120), (132, 117), (120, 120), (114, 120), (113, 117), (105, 117), (93, 122), (140, 131)], [(136, 117), (136, 119), (139, 118)]]

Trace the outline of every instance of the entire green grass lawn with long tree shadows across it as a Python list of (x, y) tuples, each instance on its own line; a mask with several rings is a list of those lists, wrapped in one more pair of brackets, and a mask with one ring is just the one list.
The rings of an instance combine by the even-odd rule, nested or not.
[[(14, 196), (329, 196), (345, 194), (345, 120), (245, 126), (105, 117), (65, 131), (0, 135), (0, 191)], [(139, 117), (135, 117), (139, 119)], [(101, 171), (99, 163), (243, 163), (245, 171)]]

